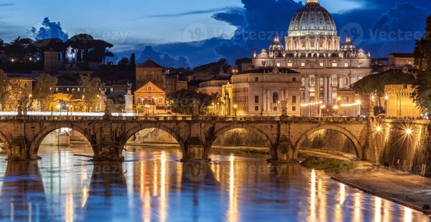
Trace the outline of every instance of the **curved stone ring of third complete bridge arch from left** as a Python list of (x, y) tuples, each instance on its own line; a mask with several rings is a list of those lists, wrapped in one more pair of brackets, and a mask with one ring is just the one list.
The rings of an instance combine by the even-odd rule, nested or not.
[(232, 123), (232, 124), (223, 126), (218, 130), (215, 130), (214, 132), (210, 132), (211, 135), (207, 135), (207, 138), (205, 141), (205, 157), (208, 157), (208, 155), (210, 154), (210, 149), (212, 147), (212, 144), (214, 144), (217, 138), (221, 137), (221, 135), (223, 135), (224, 133), (230, 130), (237, 130), (237, 129), (251, 130), (251, 132), (256, 133), (257, 135), (259, 135), (259, 137), (264, 139), (269, 149), (269, 153), (271, 154), (271, 157), (273, 157), (273, 155), (277, 155), (276, 151), (273, 151), (273, 146), (274, 146), (273, 140), (271, 139), (271, 137), (269, 137), (269, 135), (267, 135), (267, 133), (264, 133), (263, 130), (261, 130), (260, 128), (257, 128), (256, 126), (252, 126), (249, 123)]

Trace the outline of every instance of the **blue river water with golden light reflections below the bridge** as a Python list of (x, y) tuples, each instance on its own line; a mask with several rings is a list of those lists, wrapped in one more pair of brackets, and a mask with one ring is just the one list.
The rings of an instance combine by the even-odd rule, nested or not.
[(128, 146), (124, 163), (87, 162), (87, 146), (44, 146), (37, 162), (0, 162), (0, 221), (429, 221), (430, 217), (265, 155)]

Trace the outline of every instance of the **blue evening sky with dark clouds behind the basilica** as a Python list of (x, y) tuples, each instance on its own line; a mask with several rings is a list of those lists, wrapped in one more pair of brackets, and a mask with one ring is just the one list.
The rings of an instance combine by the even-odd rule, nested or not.
[[(320, 2), (332, 13), (342, 42), (349, 34), (373, 58), (412, 52), (431, 12), (429, 0)], [(0, 0), (0, 38), (67, 40), (88, 33), (115, 44), (113, 60), (135, 52), (137, 62), (151, 55), (164, 66), (194, 67), (267, 48), (275, 33), (286, 35), (301, 6), (293, 0)]]

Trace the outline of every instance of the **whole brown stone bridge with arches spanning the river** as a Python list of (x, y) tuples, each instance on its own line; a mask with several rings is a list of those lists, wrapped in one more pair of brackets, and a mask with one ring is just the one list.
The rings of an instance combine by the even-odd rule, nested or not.
[(172, 135), (183, 152), (183, 160), (208, 160), (217, 137), (233, 129), (251, 130), (266, 140), (273, 161), (297, 161), (302, 142), (319, 130), (336, 130), (350, 139), (358, 160), (374, 159), (371, 134), (375, 119), (359, 117), (77, 117), (3, 116), (0, 139), (8, 160), (36, 160), (39, 146), (49, 133), (71, 128), (84, 135), (94, 151), (94, 160), (121, 161), (130, 137), (146, 128)]

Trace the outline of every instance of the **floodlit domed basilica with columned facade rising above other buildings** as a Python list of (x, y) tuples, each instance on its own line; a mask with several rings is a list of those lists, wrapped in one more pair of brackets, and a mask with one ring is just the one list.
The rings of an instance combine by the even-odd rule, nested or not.
[[(330, 13), (318, 0), (308, 0), (291, 19), (285, 45), (279, 37), (260, 53), (254, 67), (283, 67), (301, 73), (301, 103), (354, 103), (350, 85), (371, 74), (371, 54), (340, 37)], [(310, 115), (302, 113), (301, 115)]]

